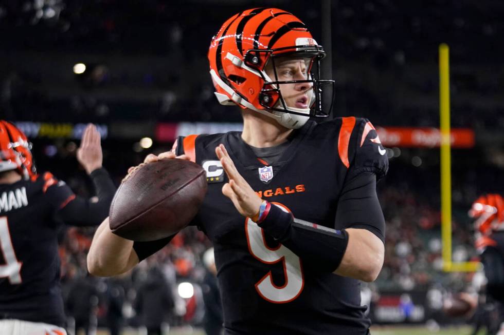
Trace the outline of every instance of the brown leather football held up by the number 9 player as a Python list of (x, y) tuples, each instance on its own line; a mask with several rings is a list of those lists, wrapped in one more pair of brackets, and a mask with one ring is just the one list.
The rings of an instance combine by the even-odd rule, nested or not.
[(117, 190), (110, 229), (122, 238), (153, 241), (186, 227), (207, 191), (205, 170), (181, 159), (141, 164)]

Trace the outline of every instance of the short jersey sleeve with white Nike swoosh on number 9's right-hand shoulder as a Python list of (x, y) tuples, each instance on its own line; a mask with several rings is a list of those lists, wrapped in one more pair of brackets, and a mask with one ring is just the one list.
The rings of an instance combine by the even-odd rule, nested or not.
[(376, 181), (382, 179), (388, 171), (388, 156), (372, 123), (367, 119), (356, 119), (351, 141), (353, 159), (346, 179), (362, 172), (374, 173)]

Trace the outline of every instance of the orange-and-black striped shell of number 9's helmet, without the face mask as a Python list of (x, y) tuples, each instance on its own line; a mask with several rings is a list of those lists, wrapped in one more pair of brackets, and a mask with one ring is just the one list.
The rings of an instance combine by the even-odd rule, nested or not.
[[(265, 65), (273, 55), (297, 51), (298, 41), (304, 40), (314, 41), (307, 27), (293, 14), (277, 8), (253, 8), (231, 16), (212, 38), (208, 50), (210, 73), (219, 102), (256, 111), (273, 109), (280, 94), (268, 92), (271, 97), (268, 106), (260, 101), (262, 92), (271, 91), (271, 85), (265, 84), (271, 81), (264, 72)], [(325, 55), (318, 45), (305, 53), (313, 59)], [(254, 62), (247, 55), (254, 58)]]

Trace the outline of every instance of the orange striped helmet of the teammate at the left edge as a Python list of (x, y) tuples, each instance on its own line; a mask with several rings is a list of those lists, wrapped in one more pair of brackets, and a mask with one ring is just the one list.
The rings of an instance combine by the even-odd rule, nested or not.
[(26, 135), (10, 122), (0, 120), (0, 172), (17, 170), (24, 179), (37, 175), (31, 143)]

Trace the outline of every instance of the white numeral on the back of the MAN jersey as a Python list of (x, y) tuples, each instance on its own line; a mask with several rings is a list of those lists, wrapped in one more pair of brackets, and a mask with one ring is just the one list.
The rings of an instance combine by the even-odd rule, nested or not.
[(8, 277), (11, 284), (21, 284), (21, 265), (18, 262), (10, 239), (7, 216), (0, 217), (0, 249), (4, 254), (4, 265), (0, 265), (0, 278)]

